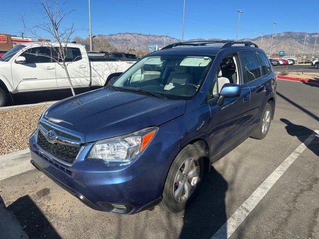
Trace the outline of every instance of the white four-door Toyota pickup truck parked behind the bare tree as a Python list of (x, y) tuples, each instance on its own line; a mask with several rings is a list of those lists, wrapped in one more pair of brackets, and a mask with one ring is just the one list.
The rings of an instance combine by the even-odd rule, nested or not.
[[(103, 87), (136, 62), (120, 58), (90, 59), (83, 45), (65, 45), (65, 61), (74, 88)], [(70, 88), (65, 70), (52, 59), (52, 47), (58, 44), (25, 43), (0, 58), (0, 107), (5, 106), (10, 94)]]

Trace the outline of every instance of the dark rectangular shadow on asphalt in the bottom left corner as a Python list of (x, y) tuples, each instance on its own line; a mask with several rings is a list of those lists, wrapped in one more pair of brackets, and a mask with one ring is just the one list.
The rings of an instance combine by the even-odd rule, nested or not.
[(60, 239), (39, 208), (25, 195), (6, 208), (13, 212), (29, 239)]

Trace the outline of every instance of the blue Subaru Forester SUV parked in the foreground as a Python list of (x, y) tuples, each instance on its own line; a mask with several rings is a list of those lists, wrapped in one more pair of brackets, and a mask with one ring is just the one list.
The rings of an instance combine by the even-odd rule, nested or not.
[(117, 79), (46, 109), (31, 163), (89, 207), (179, 212), (205, 170), (266, 136), (277, 76), (252, 42), (174, 43)]

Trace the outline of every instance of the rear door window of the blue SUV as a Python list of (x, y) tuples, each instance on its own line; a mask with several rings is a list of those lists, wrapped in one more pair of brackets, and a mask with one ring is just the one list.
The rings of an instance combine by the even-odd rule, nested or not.
[(246, 72), (244, 83), (248, 83), (261, 77), (259, 61), (256, 53), (252, 51), (243, 51), (242, 56), (245, 67), (244, 71)]

